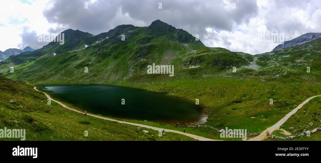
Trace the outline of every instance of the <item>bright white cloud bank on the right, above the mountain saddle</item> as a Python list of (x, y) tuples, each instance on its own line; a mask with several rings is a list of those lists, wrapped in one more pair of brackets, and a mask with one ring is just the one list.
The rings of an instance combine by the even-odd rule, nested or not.
[[(231, 31), (207, 28), (202, 42), (211, 47), (260, 54), (272, 51), (279, 43), (258, 42), (258, 33), (284, 33), (291, 40), (309, 32), (321, 32), (321, 4), (317, 1), (257, 0), (258, 14), (248, 23), (233, 26)], [(218, 31), (218, 32), (217, 32)]]

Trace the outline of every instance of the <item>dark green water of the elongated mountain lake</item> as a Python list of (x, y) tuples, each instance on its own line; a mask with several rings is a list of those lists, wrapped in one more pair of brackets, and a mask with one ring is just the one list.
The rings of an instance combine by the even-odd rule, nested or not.
[[(165, 93), (111, 85), (38, 85), (52, 98), (88, 113), (161, 123), (205, 122), (194, 102)], [(125, 105), (122, 105), (122, 99)]]

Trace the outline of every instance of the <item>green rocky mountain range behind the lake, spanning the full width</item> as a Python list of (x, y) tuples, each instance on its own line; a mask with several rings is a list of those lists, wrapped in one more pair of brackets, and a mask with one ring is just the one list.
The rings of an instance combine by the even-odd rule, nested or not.
[[(206, 47), (187, 31), (160, 20), (148, 27), (119, 25), (99, 35), (73, 29), (62, 33), (64, 44), (50, 42), (1, 61), (0, 75), (33, 83), (152, 83), (204, 77), (274, 81), (297, 76), (302, 79), (293, 80), (302, 82), (308, 79), (301, 75), (307, 66), (320, 69), (321, 38), (317, 33), (286, 41), (278, 45), (281, 50), (257, 55)], [(174, 65), (174, 77), (147, 74), (147, 66), (153, 63)], [(14, 73), (10, 73), (11, 66)], [(89, 73), (83, 73), (84, 67)], [(230, 71), (233, 67), (238, 73)]]

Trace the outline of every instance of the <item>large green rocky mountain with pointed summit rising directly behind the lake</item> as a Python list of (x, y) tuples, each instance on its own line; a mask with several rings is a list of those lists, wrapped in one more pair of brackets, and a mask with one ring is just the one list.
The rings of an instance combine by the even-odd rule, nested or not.
[[(64, 45), (52, 42), (35, 52), (13, 56), (0, 63), (0, 73), (8, 78), (27, 79), (31, 83), (106, 84), (142, 78), (146, 76), (146, 67), (153, 63), (174, 65), (175, 78), (180, 79), (189, 76), (187, 71), (193, 73), (194, 70), (188, 70), (190, 67), (222, 71), (249, 65), (248, 60), (253, 60), (249, 54), (205, 47), (186, 31), (159, 20), (148, 27), (117, 26), (97, 36), (71, 29), (63, 33)], [(124, 41), (122, 35), (125, 36)], [(106, 38), (98, 40), (104, 36)], [(88, 44), (92, 40), (96, 42)], [(85, 43), (89, 45), (86, 48)], [(10, 73), (11, 66), (14, 73)], [(88, 67), (88, 73), (84, 73), (84, 67)], [(160, 75), (157, 79), (148, 75), (147, 78), (169, 80), (168, 75)]]

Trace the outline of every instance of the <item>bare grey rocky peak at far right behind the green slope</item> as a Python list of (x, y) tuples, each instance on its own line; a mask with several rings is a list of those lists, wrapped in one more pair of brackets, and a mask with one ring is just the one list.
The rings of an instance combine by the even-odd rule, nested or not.
[(290, 41), (285, 41), (284, 44), (280, 44), (276, 46), (272, 51), (282, 50), (282, 49), (290, 48), (302, 43), (307, 43), (319, 37), (321, 37), (321, 33), (306, 33)]

